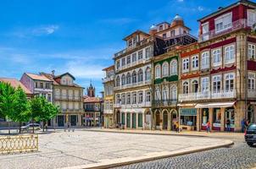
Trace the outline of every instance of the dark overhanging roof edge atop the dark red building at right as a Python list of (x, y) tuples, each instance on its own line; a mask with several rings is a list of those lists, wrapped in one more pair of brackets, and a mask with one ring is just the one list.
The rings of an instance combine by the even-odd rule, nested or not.
[(225, 8), (221, 8), (221, 9), (217, 10), (217, 11), (215, 11), (215, 12), (212, 13), (212, 14), (208, 14), (208, 15), (204, 16), (203, 18), (198, 19), (198, 21), (200, 22), (200, 21), (203, 21), (203, 20), (205, 20), (205, 19), (209, 19), (209, 17), (212, 17), (212, 16), (214, 16), (214, 15), (223, 13), (223, 12), (225, 12), (226, 10), (228, 10), (228, 9), (230, 9), (230, 8), (233, 8), (233, 7), (236, 7), (236, 6), (239, 5), (239, 4), (256, 6), (256, 3), (253, 3), (252, 1), (240, 0), (240, 1), (238, 1), (237, 3), (232, 3), (231, 5), (229, 5), (229, 6), (225, 7)]

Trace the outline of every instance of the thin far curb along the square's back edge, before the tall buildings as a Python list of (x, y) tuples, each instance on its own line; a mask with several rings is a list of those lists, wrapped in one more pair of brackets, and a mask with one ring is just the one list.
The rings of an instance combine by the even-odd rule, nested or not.
[(86, 132), (99, 132), (99, 133), (114, 133), (114, 134), (146, 134), (146, 135), (172, 135), (172, 136), (188, 136), (188, 137), (211, 137), (210, 135), (192, 135), (192, 134), (158, 134), (158, 133), (140, 133), (140, 132), (122, 132), (122, 131), (104, 131), (97, 129), (83, 129), (82, 131)]

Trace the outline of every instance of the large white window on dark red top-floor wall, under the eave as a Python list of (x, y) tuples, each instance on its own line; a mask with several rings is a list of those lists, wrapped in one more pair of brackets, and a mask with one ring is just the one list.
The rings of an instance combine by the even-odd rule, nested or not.
[(232, 14), (223, 14), (219, 18), (215, 19), (215, 32), (221, 32), (231, 28)]

